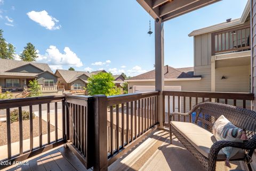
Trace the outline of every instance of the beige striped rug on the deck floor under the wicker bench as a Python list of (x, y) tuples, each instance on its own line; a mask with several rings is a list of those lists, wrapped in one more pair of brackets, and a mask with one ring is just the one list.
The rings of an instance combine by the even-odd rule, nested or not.
[[(243, 161), (230, 161), (231, 168), (223, 161), (217, 163), (217, 171), (247, 170)], [(139, 144), (122, 158), (108, 167), (108, 170), (205, 170), (197, 159), (173, 137), (170, 144), (169, 132), (156, 130), (153, 135)]]

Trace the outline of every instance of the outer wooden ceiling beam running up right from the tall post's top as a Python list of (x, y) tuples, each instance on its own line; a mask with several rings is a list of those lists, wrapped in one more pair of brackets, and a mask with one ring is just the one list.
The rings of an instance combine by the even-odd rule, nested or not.
[(177, 16), (180, 16), (182, 14), (186, 14), (188, 12), (197, 10), (198, 8), (201, 8), (201, 7), (204, 7), (204, 6), (213, 4), (215, 2), (219, 2), (219, 1), (221, 1), (221, 0), (201, 0), (201, 1), (197, 1), (196, 3), (187, 5), (186, 7), (180, 8), (177, 11), (173, 11), (173, 12), (167, 14), (167, 15), (164, 15), (162, 17), (162, 19), (163, 19), (163, 21), (167, 21), (167, 20), (173, 19)]

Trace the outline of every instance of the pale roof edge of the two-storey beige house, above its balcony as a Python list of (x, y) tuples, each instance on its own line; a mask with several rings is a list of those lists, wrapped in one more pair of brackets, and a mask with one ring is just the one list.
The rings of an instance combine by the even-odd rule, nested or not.
[(230, 22), (223, 22), (223, 23), (215, 24), (215, 25), (205, 27), (202, 29), (194, 30), (191, 33), (189, 33), (188, 36), (189, 37), (197, 36), (197, 35), (202, 35), (204, 33), (214, 32), (214, 31), (218, 31), (218, 30), (222, 30), (222, 29), (226, 29), (226, 28), (230, 28), (230, 27), (236, 27), (238, 25), (245, 23), (249, 14), (250, 14), (250, 1), (248, 0), (241, 18), (231, 20)]

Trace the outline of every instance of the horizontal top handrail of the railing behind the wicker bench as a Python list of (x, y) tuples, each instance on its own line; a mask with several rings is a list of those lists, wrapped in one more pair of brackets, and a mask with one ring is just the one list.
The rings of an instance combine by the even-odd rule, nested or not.
[(246, 92), (163, 91), (163, 95), (216, 99), (254, 100), (254, 94)]

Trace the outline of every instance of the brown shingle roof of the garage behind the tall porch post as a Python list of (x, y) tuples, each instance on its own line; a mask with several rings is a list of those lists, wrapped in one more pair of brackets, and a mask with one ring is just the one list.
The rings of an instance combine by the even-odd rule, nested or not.
[[(192, 73), (192, 74), (191, 74)], [(191, 79), (191, 78), (201, 78), (201, 76), (194, 76), (194, 67), (186, 67), (186, 68), (179, 68), (174, 69), (171, 66), (165, 65), (164, 66), (164, 79)], [(131, 80), (155, 80), (155, 70), (133, 76), (129, 80), (126, 80), (127, 82)]]

